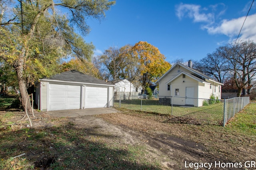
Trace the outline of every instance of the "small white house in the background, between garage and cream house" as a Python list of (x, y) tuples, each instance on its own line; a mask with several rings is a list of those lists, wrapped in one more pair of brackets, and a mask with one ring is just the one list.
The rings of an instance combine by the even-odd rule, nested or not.
[(114, 91), (117, 92), (136, 92), (136, 87), (130, 81), (124, 79), (115, 83)]

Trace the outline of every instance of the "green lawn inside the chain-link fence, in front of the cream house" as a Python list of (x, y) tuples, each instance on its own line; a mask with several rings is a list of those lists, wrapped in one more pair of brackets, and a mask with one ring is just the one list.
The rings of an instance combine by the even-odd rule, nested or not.
[[(142, 105), (141, 105), (142, 104)], [(114, 102), (114, 107), (119, 107), (119, 101)], [(201, 107), (164, 106), (158, 100), (122, 100), (121, 108), (135, 111), (170, 115), (181, 123), (221, 125), (223, 120), (223, 103), (215, 103)], [(178, 122), (179, 122), (178, 121)]]

